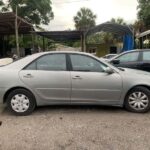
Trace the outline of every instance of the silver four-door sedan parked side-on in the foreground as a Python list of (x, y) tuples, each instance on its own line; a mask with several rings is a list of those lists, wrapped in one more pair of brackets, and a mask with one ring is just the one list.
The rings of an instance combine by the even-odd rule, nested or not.
[(150, 73), (118, 69), (87, 53), (37, 53), (1, 67), (0, 77), (0, 102), (16, 115), (57, 104), (150, 109)]

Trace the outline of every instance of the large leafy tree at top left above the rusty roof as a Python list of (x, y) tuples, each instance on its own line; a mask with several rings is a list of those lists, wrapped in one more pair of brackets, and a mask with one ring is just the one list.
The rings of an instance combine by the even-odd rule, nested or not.
[(2, 11), (15, 12), (17, 6), (18, 16), (35, 25), (47, 25), (54, 17), (51, 4), (51, 0), (8, 0)]

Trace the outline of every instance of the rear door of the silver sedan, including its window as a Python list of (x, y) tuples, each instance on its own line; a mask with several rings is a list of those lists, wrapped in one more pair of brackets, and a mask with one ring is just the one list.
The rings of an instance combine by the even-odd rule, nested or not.
[(71, 79), (65, 54), (47, 54), (38, 58), (20, 71), (20, 78), (41, 99), (70, 102)]

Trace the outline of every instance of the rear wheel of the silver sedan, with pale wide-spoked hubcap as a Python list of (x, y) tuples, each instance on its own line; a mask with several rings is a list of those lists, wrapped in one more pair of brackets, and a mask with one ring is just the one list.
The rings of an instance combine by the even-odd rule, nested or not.
[(36, 106), (35, 97), (25, 89), (16, 89), (7, 97), (8, 109), (18, 116), (27, 116), (33, 112)]

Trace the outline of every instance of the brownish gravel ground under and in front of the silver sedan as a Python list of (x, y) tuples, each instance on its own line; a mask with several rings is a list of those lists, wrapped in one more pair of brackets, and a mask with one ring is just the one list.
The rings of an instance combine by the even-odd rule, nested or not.
[(149, 150), (150, 112), (50, 106), (26, 117), (0, 107), (0, 150)]

